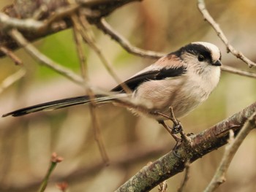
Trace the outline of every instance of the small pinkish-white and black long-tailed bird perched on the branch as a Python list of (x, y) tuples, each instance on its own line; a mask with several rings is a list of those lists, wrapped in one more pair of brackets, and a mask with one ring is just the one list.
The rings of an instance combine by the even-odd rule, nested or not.
[[(148, 104), (148, 114), (159, 122), (165, 120), (154, 112), (168, 114), (173, 108), (176, 118), (187, 115), (205, 101), (217, 86), (220, 76), (221, 53), (219, 48), (208, 42), (192, 42), (173, 53), (159, 58), (151, 66), (132, 76), (124, 83), (132, 91), (132, 100)], [(97, 103), (118, 102), (129, 94), (123, 86), (111, 90), (113, 95), (95, 95)], [(21, 116), (42, 110), (56, 110), (91, 101), (89, 96), (50, 101), (4, 114)], [(134, 109), (133, 109), (134, 110)]]

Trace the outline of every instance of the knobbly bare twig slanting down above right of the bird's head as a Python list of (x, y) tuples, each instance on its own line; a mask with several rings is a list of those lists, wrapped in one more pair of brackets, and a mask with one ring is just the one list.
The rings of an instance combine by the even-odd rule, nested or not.
[(224, 44), (227, 47), (227, 52), (232, 53), (235, 55), (237, 58), (241, 59), (241, 61), (244, 61), (244, 63), (248, 64), (249, 67), (256, 66), (256, 64), (249, 60), (249, 58), (246, 58), (243, 53), (240, 51), (236, 50), (232, 45), (227, 40), (227, 37), (223, 33), (222, 29), (219, 27), (219, 24), (215, 22), (215, 20), (211, 17), (209, 14), (208, 10), (206, 9), (206, 4), (204, 0), (197, 0), (197, 6), (200, 12), (202, 13), (203, 17), (210, 23), (210, 25), (214, 28), (214, 30), (217, 32), (217, 35), (219, 38), (224, 42)]

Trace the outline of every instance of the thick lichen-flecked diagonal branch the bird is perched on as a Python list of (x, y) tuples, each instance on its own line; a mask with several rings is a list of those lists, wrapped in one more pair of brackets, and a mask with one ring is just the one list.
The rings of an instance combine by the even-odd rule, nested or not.
[(173, 151), (167, 153), (154, 163), (143, 167), (140, 172), (130, 178), (117, 191), (149, 191), (167, 178), (182, 172), (187, 160), (193, 162), (197, 158), (201, 158), (203, 155), (225, 145), (229, 130), (232, 129), (237, 134), (255, 110), (256, 103), (230, 118), (222, 120), (222, 122), (206, 129), (206, 131), (193, 135), (190, 148), (184, 144), (178, 147), (176, 153), (180, 158), (174, 155)]

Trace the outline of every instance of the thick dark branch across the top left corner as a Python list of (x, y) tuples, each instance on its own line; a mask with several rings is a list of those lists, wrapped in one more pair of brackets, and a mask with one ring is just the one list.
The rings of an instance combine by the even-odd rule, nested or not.
[[(118, 7), (132, 1), (141, 0), (77, 0), (76, 5), (69, 6), (64, 0), (17, 0), (4, 7), (0, 12), (0, 46), (15, 50), (18, 44), (7, 35), (10, 28), (18, 28), (30, 42), (49, 34), (69, 28), (72, 25), (70, 15), (80, 9), (86, 9), (87, 20), (97, 22)], [(67, 9), (65, 9), (67, 8)], [(53, 28), (52, 23), (65, 21), (65, 25)], [(4, 53), (0, 52), (0, 57)]]

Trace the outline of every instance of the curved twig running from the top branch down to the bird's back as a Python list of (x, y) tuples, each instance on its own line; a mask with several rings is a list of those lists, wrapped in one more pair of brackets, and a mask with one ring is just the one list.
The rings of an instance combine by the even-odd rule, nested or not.
[(160, 58), (164, 54), (157, 53), (150, 50), (143, 50), (138, 47), (132, 46), (127, 39), (121, 36), (121, 34), (118, 34), (117, 31), (115, 31), (111, 26), (105, 21), (104, 18), (101, 18), (98, 23), (95, 23), (95, 25), (102, 30), (105, 34), (108, 34), (112, 39), (114, 39), (116, 42), (118, 42), (121, 47), (124, 48), (124, 50), (127, 50), (128, 53), (132, 53), (134, 55), (139, 55), (143, 58)]

